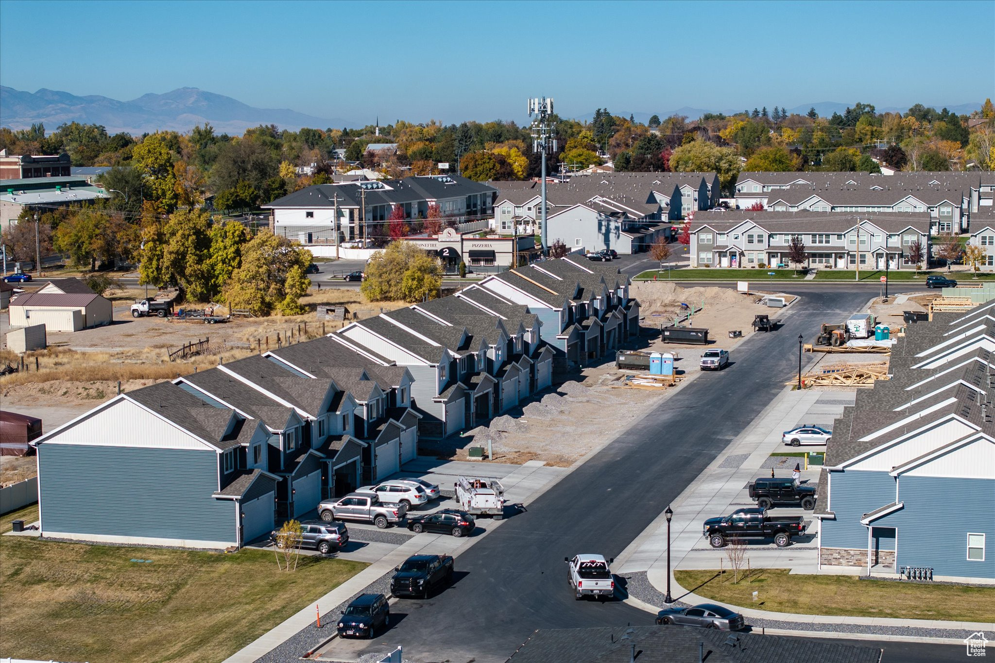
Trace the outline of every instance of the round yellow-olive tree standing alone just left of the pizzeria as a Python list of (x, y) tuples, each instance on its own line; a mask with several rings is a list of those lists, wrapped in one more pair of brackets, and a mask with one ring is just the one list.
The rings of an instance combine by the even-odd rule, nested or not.
[(432, 299), (442, 287), (439, 260), (410, 242), (394, 242), (373, 253), (359, 289), (370, 301)]

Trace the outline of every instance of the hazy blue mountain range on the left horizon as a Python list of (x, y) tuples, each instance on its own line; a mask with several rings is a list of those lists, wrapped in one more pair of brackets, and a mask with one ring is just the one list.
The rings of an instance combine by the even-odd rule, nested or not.
[(276, 124), (282, 129), (298, 130), (354, 126), (341, 118), (306, 115), (289, 108), (255, 108), (230, 96), (207, 92), (196, 87), (179, 87), (164, 94), (148, 93), (130, 101), (107, 96), (78, 96), (54, 89), (25, 92), (0, 85), (0, 124), (12, 129), (26, 129), (44, 122), (53, 131), (64, 122), (101, 124), (108, 133), (120, 131), (132, 135), (158, 130), (184, 133), (197, 124), (210, 122), (217, 133), (242, 134), (260, 124)]

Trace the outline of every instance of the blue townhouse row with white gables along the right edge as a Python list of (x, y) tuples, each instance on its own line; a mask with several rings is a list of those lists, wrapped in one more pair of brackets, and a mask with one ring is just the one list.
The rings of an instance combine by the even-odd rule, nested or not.
[(890, 379), (835, 421), (814, 514), (820, 570), (995, 580), (993, 353), (995, 303), (908, 326)]

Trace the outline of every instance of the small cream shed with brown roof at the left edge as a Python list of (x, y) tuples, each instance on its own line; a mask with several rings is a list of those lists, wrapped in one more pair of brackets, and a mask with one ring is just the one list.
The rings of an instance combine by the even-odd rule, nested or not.
[(10, 302), (10, 326), (45, 325), (54, 331), (79, 331), (110, 324), (110, 301), (99, 294), (33, 292)]

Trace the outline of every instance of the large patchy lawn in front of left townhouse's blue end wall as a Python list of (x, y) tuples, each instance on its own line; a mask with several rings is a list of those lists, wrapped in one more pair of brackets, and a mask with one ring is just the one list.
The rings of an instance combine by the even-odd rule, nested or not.
[[(0, 530), (14, 519), (34, 522), (38, 505), (4, 515)], [(366, 566), (301, 556), (289, 573), (257, 550), (0, 537), (0, 651), (46, 661), (221, 661)]]

